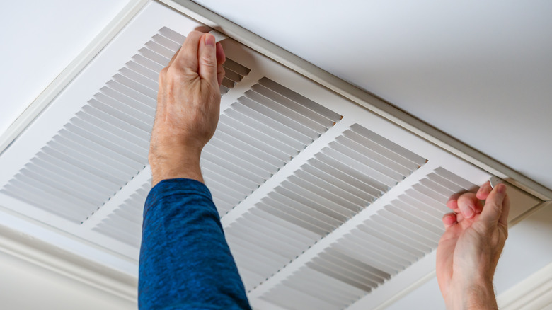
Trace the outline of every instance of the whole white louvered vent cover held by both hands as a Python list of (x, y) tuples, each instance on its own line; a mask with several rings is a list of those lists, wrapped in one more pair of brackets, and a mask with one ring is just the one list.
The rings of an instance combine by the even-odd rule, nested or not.
[[(157, 75), (197, 25), (148, 4), (1, 154), (0, 212), (54, 234), (14, 229), (137, 275)], [(404, 289), (393, 279), (430, 272), (444, 203), (489, 174), (236, 41), (223, 45), (222, 112), (202, 171), (253, 306), (381, 304)], [(512, 192), (512, 217), (537, 202)], [(59, 242), (68, 238), (79, 246)]]

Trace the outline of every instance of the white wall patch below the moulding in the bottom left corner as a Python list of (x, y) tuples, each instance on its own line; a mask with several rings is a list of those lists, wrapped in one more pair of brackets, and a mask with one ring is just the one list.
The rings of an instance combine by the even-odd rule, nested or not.
[(137, 304), (0, 252), (4, 310), (130, 310)]

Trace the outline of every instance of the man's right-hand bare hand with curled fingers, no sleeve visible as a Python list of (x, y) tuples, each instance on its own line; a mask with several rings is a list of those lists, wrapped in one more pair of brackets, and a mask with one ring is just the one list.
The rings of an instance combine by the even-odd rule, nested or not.
[[(486, 200), (485, 206), (480, 200)], [(437, 281), (447, 309), (497, 309), (493, 276), (508, 236), (510, 202), (504, 184), (447, 202), (437, 247)]]

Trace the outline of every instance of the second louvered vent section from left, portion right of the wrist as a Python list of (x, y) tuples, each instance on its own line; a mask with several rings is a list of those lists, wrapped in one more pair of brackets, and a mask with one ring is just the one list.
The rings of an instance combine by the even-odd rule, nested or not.
[(202, 172), (224, 215), (341, 119), (270, 79), (260, 79), (220, 116)]

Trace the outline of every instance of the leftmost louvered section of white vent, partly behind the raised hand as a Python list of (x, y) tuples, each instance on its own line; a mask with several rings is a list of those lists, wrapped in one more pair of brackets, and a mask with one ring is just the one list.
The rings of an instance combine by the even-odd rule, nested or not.
[[(76, 224), (86, 221), (146, 167), (157, 76), (184, 40), (161, 28), (1, 192)], [(224, 68), (236, 81), (250, 71), (231, 59)], [(222, 93), (236, 81), (225, 82)]]

